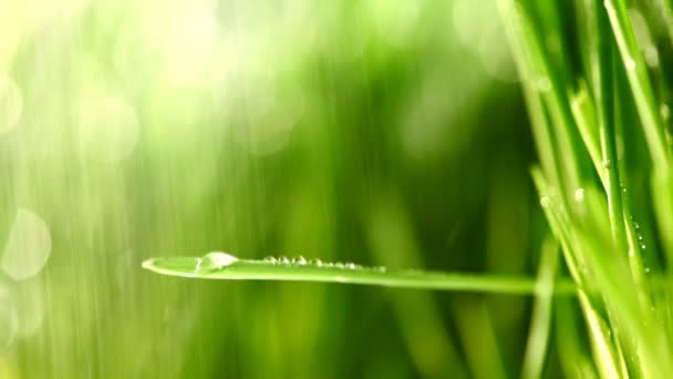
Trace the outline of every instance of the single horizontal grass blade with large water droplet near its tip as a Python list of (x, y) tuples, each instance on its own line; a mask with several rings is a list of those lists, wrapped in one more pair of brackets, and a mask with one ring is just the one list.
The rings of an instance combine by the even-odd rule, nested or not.
[[(143, 267), (158, 274), (199, 279), (342, 283), (507, 295), (532, 295), (537, 286), (535, 279), (527, 277), (389, 270), (352, 263), (306, 260), (302, 257), (249, 260), (226, 253), (210, 253), (200, 258), (152, 258), (144, 262)], [(570, 281), (555, 284), (557, 295), (572, 295), (576, 289)]]

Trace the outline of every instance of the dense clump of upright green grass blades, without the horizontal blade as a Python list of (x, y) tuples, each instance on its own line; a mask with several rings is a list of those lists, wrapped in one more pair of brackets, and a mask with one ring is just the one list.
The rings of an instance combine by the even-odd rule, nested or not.
[(534, 182), (581, 288), (588, 344), (567, 337), (573, 311), (557, 307), (572, 377), (673, 377), (671, 3), (639, 6), (499, 1), (540, 157)]

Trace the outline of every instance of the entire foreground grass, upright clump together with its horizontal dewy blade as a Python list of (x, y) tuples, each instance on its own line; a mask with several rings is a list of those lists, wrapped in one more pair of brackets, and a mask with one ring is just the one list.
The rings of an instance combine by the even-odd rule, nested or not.
[[(673, 378), (672, 6), (498, 0), (539, 153), (531, 174), (553, 236), (535, 279), (224, 253), (143, 267), (204, 279), (534, 295), (524, 377), (542, 375), (553, 329), (567, 377)], [(565, 272), (569, 279), (558, 279)]]

